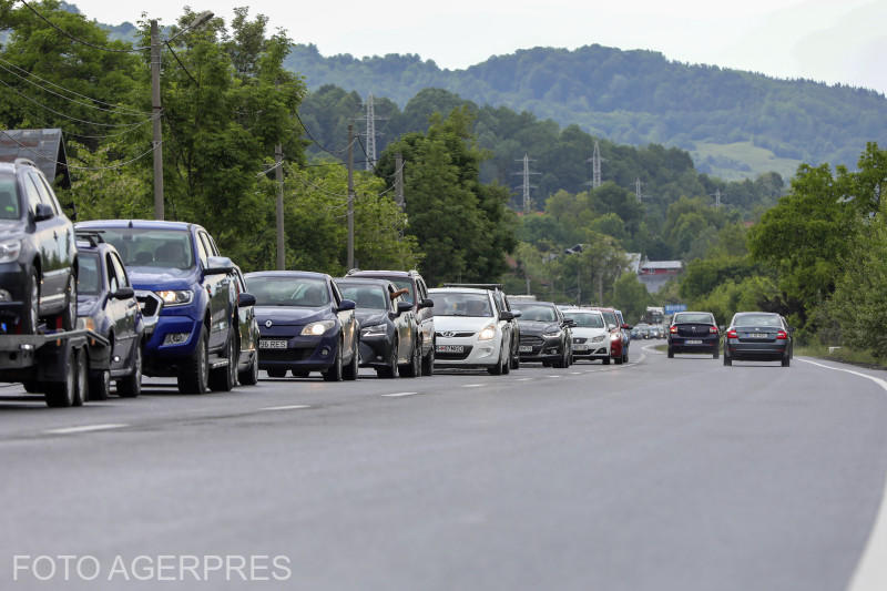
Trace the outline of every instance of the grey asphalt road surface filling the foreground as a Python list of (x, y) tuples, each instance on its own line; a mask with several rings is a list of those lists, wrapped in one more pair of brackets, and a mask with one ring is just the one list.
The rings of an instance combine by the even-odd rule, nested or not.
[(887, 391), (644, 345), (500, 377), (151, 380), (80, 409), (0, 388), (0, 589), (847, 589)]

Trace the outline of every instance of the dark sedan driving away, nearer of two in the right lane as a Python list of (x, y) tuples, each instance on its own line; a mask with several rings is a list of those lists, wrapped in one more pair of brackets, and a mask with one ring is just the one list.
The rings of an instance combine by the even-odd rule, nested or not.
[(724, 365), (733, 361), (792, 364), (794, 345), (785, 318), (771, 312), (741, 312), (724, 335)]

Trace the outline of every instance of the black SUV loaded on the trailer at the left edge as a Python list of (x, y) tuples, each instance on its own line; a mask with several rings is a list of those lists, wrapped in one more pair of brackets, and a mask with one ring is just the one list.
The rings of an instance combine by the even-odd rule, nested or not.
[(0, 162), (0, 333), (30, 335), (40, 319), (77, 322), (74, 227), (40, 169)]

